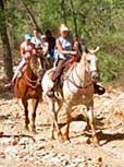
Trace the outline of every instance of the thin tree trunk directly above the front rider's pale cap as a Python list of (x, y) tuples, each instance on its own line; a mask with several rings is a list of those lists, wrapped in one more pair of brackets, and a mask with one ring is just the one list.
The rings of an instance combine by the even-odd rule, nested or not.
[(60, 5), (61, 5), (61, 17), (62, 17), (62, 21), (63, 21), (63, 23), (64, 24), (67, 24), (67, 22), (66, 22), (66, 14), (65, 14), (65, 0), (61, 0), (61, 3), (60, 3)]

